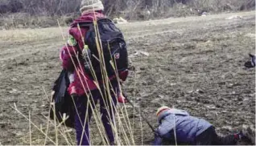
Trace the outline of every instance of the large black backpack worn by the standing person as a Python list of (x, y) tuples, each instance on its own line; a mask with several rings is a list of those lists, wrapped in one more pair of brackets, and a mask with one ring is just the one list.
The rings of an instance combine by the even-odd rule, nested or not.
[[(81, 22), (79, 23), (81, 28), (87, 27), (89, 30), (85, 34), (85, 44), (89, 47), (89, 53), (91, 56), (90, 60), (92, 62), (93, 70), (97, 75), (97, 79), (102, 79), (102, 67), (99, 62), (99, 52), (97, 50), (96, 36), (97, 33), (100, 36), (97, 37), (97, 40), (101, 42), (102, 53), (105, 61), (105, 69), (109, 77), (116, 75), (122, 71), (126, 71), (128, 68), (128, 53), (126, 48), (126, 41), (124, 40), (121, 30), (114, 25), (108, 18), (100, 18), (97, 20), (97, 29), (93, 22)], [(95, 58), (96, 57), (96, 58)], [(114, 61), (114, 67), (111, 65), (110, 61)], [(93, 75), (88, 67), (85, 67), (85, 71), (92, 78)], [(117, 72), (116, 72), (117, 71)]]

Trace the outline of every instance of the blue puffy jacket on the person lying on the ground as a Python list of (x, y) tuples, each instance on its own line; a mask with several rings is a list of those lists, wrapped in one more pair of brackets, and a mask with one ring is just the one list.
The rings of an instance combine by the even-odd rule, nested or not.
[(213, 126), (206, 120), (189, 116), (188, 112), (175, 108), (164, 111), (159, 116), (159, 123), (159, 136), (155, 137), (155, 145), (160, 145), (162, 138), (174, 140), (175, 137), (177, 142), (194, 144), (196, 136)]

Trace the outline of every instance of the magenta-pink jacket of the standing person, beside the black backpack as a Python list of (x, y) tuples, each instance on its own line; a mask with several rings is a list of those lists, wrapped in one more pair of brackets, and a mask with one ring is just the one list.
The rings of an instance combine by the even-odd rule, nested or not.
[[(72, 22), (72, 27), (69, 29), (69, 34), (76, 39), (80, 48), (84, 48), (84, 43), (82, 38), (85, 36), (85, 33), (88, 29), (81, 28), (81, 31), (76, 27), (78, 22), (93, 22), (94, 18), (104, 18), (104, 14), (100, 12), (89, 12), (83, 14), (80, 18), (77, 18)], [(78, 95), (84, 95), (85, 91), (92, 91), (97, 89), (95, 83), (92, 79), (89, 79), (89, 75), (85, 73), (85, 68), (81, 60), (76, 59), (77, 47), (72, 47), (70, 44), (64, 46), (60, 52), (60, 59), (62, 60), (62, 66), (67, 71), (72, 71), (75, 76), (75, 87)], [(69, 53), (68, 53), (69, 51)], [(72, 59), (75, 62), (75, 66), (72, 63)], [(79, 63), (80, 62), (80, 63)], [(80, 65), (81, 64), (81, 65)]]

